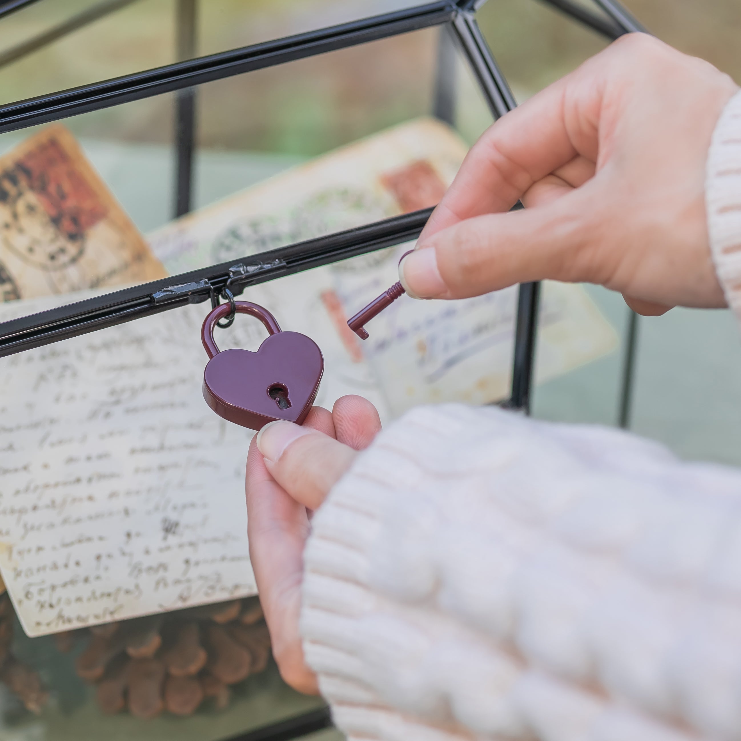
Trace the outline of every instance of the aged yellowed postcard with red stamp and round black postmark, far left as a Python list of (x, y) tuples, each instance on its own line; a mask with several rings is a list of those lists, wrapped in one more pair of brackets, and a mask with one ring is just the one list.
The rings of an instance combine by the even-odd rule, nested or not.
[(64, 127), (45, 129), (0, 158), (2, 300), (166, 274)]

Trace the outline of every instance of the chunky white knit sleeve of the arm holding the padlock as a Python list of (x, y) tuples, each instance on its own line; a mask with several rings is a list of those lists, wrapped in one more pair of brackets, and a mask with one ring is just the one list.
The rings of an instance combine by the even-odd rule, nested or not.
[(351, 740), (741, 738), (741, 473), (419, 408), (313, 518), (305, 655)]

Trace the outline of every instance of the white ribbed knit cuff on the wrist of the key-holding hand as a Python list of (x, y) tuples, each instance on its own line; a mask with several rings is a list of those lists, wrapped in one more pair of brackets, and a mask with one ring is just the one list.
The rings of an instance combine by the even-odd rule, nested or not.
[(715, 270), (741, 324), (741, 93), (731, 98), (715, 128), (705, 201)]

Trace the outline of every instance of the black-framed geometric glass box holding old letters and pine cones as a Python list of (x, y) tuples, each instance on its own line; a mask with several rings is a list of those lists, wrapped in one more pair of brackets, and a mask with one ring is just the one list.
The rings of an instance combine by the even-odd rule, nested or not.
[[(612, 0), (548, 4), (607, 39), (641, 30)], [(214, 427), (210, 448), (189, 448), (197, 436), (211, 433), (183, 413), (177, 394), (166, 396), (147, 384), (157, 375), (164, 386), (176, 385), (187, 368), (199, 364), (202, 373), (205, 355), (190, 342), (193, 336), (198, 342), (196, 319), (203, 319), (207, 302), (219, 302), (228, 285), (236, 296), (273, 302), (278, 313), (283, 307), (285, 329), (304, 326), (319, 336), (326, 325), (325, 344), (319, 342), (328, 358), (325, 382), (337, 393), (377, 392), (387, 418), (449, 393), (528, 411), (539, 319), (536, 284), (461, 304), (452, 319), (399, 310), (388, 322), (376, 320), (377, 329), (371, 325), (379, 338), (371, 350), (342, 333), (347, 316), (376, 296), (377, 288), (391, 285), (384, 281), (399, 250), (419, 236), (471, 139), (481, 133), (456, 128), (459, 86), (477, 88), (476, 104), (490, 121), (516, 102), (476, 22), (482, 1), (328, 2), (323, 15), (309, 7), (285, 14), (285, 23), (230, 29), (221, 41), (211, 39), (201, 56), (197, 30), (206, 23), (219, 27), (219, 3), (74, 5), (0, 2), (0, 24), (14, 28), (14, 39), (18, 32), (17, 42), (0, 52), (0, 79), (11, 64), (47, 61), (45, 76), (28, 67), (20, 76), (25, 87), (8, 84), (0, 104), (0, 289), (9, 301), (0, 307), (8, 438), (0, 448), (8, 453), (8, 445), (16, 446), (1, 462), (9, 478), (0, 487), (6, 510), (0, 528), (10, 545), (4, 544), (0, 569), (13, 602), (11, 607), (7, 596), (0, 602), (4, 726), (19, 739), (302, 737), (329, 728), (328, 711), (320, 700), (285, 687), (272, 665), (265, 668), (268, 639), (249, 596), (253, 589), (227, 579), (239, 568), (249, 570), (246, 556), (242, 565), (235, 556), (232, 571), (224, 567), (210, 582), (216, 567), (202, 568), (200, 581), (189, 581), (185, 573), (205, 560), (205, 551), (199, 555), (193, 545), (195, 536), (187, 568), (182, 556), (172, 556), (188, 547), (188, 534), (200, 527), (184, 514), (187, 507), (206, 511), (216, 496), (207, 494), (220, 491), (227, 474), (230, 499), (219, 500), (208, 517), (213, 525), (219, 511), (222, 518), (236, 512), (234, 519), (242, 522), (241, 511), (229, 510), (229, 502), (239, 498), (238, 485), (233, 488), (239, 476), (220, 471), (228, 466), (215, 456), (225, 451), (243, 457), (245, 439), (230, 442)], [(366, 12), (371, 5), (374, 15)], [(144, 7), (153, 19), (170, 14), (176, 20), (170, 41), (178, 61), (161, 59), (155, 43), (160, 36), (147, 36), (138, 16), (116, 15)], [(36, 15), (26, 23), (26, 13)], [(138, 36), (132, 36), (141, 45), (136, 62), (122, 53), (125, 35), (102, 25), (107, 19), (120, 21), (116, 33), (127, 22), (139, 23)], [(85, 29), (90, 35), (84, 44), (64, 47)], [(99, 64), (85, 62), (86, 44), (99, 53)], [(55, 48), (64, 59), (82, 60), (71, 78), (59, 74), (74, 79), (74, 87), (56, 88), (57, 58), (50, 51)], [(147, 59), (152, 62), (142, 61)], [(326, 82), (330, 77), (340, 82), (333, 87)], [(394, 101), (392, 113), (379, 111), (379, 95)], [(350, 101), (352, 114), (341, 126), (326, 113), (333, 96)], [(296, 100), (302, 101), (300, 113), (292, 108)], [(288, 123), (261, 127), (256, 112), (268, 109), (279, 112), (273, 121)], [(225, 127), (225, 119), (239, 125)], [(134, 144), (131, 132), (144, 128), (150, 142)], [(103, 131), (119, 132), (119, 142), (102, 144)], [(199, 149), (204, 136), (213, 152)], [(311, 162), (296, 155), (292, 142), (301, 136), (310, 139), (305, 149), (317, 156)], [(216, 151), (224, 143), (231, 154)], [(263, 144), (280, 156), (246, 151)], [(564, 296), (554, 305), (578, 312), (581, 299)], [(234, 342), (254, 339), (238, 332)], [(483, 370), (476, 366), (474, 373), (474, 362)], [(487, 363), (499, 370), (487, 369)], [(116, 382), (106, 375), (113, 365)], [(93, 367), (95, 373), (86, 376)], [(160, 411), (158, 399), (166, 402)], [(140, 428), (130, 422), (137, 415), (144, 420)], [(113, 417), (120, 424), (105, 427)], [(133, 427), (124, 430), (121, 420)], [(147, 439), (154, 428), (156, 435)], [(116, 433), (139, 436), (127, 443), (127, 462), (118, 461), (113, 473), (107, 463), (95, 468), (91, 459), (116, 459), (122, 446), (96, 448), (93, 436)], [(131, 463), (142, 451), (153, 456)], [(184, 460), (201, 462), (202, 469), (167, 479), (167, 488), (155, 469)], [(20, 470), (11, 471), (13, 466)], [(95, 476), (93, 489), (76, 494), (76, 486), (82, 491)], [(126, 485), (110, 488), (106, 476), (119, 476)], [(133, 481), (141, 491), (162, 491), (136, 499), (141, 492), (132, 493)], [(23, 493), (34, 487), (36, 499), (29, 503)], [(52, 488), (56, 498), (48, 496)], [(76, 498), (93, 501), (103, 494), (113, 504), (81, 510), (93, 519), (65, 531), (62, 540), (55, 540), (55, 528), (62, 528), (64, 515), (52, 521), (28, 509), (64, 505), (74, 514)], [(127, 525), (127, 494), (144, 513), (141, 531)], [(114, 522), (116, 548), (104, 544), (97, 554), (85, 551), (87, 539), (100, 536), (103, 543), (108, 537), (106, 518)], [(50, 534), (39, 536), (43, 527)], [(64, 520), (64, 528), (71, 527)], [(238, 540), (228, 528), (224, 524), (220, 536)], [(141, 551), (137, 539), (146, 541)], [(161, 555), (147, 561), (142, 554), (152, 556), (155, 542)], [(39, 556), (47, 545), (55, 554)], [(222, 556), (239, 551), (218, 548)], [(218, 548), (209, 551), (214, 562)], [(30, 553), (34, 549), (38, 553)], [(79, 588), (90, 574), (100, 575), (100, 586)], [(136, 594), (124, 598), (116, 590)], [(22, 629), (16, 623), (11, 645), (14, 612)]]

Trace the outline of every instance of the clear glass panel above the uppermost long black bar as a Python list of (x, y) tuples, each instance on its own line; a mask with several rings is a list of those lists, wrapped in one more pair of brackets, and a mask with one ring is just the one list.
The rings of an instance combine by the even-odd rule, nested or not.
[[(414, 0), (41, 0), (0, 19), (0, 104), (420, 4)], [(179, 11), (196, 8), (195, 45)], [(59, 37), (59, 38), (56, 38)], [(39, 48), (37, 48), (39, 47)]]

